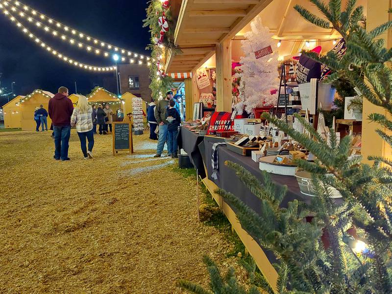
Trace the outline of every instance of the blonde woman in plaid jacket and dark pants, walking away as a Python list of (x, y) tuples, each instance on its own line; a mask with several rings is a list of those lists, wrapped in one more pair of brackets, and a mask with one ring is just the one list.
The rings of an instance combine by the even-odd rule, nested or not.
[[(92, 114), (93, 108), (87, 103), (87, 98), (80, 96), (77, 106), (73, 109), (71, 126), (76, 125), (84, 159), (93, 158), (94, 133)], [(86, 138), (89, 141), (88, 149), (86, 148)]]

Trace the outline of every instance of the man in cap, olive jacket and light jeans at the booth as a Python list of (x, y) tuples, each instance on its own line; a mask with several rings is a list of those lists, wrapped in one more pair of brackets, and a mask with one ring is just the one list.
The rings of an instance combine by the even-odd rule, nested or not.
[(163, 148), (168, 137), (168, 121), (166, 120), (166, 109), (169, 106), (169, 100), (173, 98), (173, 92), (166, 93), (166, 98), (158, 101), (155, 107), (155, 119), (159, 125), (159, 139), (154, 157), (161, 157)]

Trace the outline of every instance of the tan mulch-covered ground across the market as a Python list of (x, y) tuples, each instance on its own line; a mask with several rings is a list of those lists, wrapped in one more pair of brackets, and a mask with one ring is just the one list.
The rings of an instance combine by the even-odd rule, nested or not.
[(49, 133), (0, 133), (0, 293), (182, 293), (208, 284), (203, 254), (226, 263), (231, 245), (197, 222), (196, 183), (154, 159), (156, 142), (112, 156), (96, 136), (84, 160), (53, 157)]

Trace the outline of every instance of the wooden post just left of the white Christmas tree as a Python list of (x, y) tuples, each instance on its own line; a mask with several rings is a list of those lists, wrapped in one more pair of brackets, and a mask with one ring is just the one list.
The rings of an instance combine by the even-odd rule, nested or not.
[(231, 112), (231, 40), (216, 45), (217, 111)]

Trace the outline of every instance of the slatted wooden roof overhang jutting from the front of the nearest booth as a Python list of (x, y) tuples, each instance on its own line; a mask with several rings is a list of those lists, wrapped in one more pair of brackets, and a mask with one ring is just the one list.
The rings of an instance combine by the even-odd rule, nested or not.
[(183, 0), (174, 32), (182, 53), (168, 56), (167, 73), (191, 72), (232, 38), (272, 0)]

